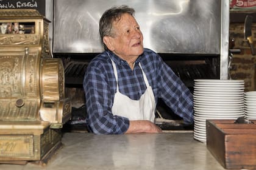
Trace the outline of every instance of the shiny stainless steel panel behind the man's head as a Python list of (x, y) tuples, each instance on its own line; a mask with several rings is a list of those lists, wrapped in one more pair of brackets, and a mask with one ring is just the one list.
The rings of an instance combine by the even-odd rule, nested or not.
[(220, 53), (221, 17), (226, 17), (221, 16), (221, 0), (56, 0), (53, 52), (102, 52), (99, 18), (113, 5), (123, 4), (136, 11), (144, 47), (158, 53)]

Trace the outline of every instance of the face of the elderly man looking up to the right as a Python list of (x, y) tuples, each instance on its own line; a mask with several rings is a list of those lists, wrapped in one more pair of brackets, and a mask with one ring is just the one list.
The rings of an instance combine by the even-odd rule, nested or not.
[(108, 36), (108, 49), (124, 60), (138, 58), (143, 53), (143, 35), (135, 18), (126, 13), (113, 23), (113, 37)]

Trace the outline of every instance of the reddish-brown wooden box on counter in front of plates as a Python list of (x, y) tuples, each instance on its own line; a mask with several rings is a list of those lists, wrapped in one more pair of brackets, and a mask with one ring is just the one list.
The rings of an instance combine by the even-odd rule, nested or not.
[(207, 149), (226, 169), (256, 169), (255, 124), (207, 120)]

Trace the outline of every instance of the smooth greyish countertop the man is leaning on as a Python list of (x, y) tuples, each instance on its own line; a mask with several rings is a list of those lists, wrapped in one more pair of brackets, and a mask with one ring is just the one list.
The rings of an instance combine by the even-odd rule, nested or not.
[(224, 169), (193, 133), (94, 135), (65, 133), (48, 165), (0, 169)]

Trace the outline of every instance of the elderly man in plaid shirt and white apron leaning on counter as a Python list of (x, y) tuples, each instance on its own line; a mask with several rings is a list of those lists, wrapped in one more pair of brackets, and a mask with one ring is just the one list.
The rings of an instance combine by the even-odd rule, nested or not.
[(193, 123), (190, 90), (143, 47), (135, 10), (112, 7), (99, 21), (105, 51), (93, 58), (84, 78), (87, 126), (94, 134), (157, 133), (155, 106), (162, 98), (184, 123)]

